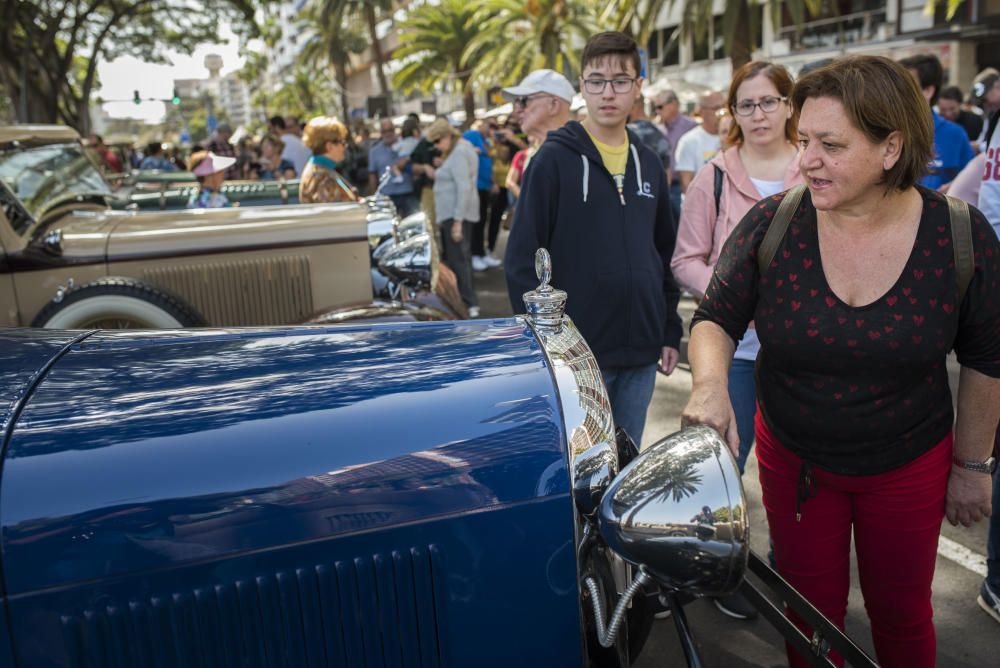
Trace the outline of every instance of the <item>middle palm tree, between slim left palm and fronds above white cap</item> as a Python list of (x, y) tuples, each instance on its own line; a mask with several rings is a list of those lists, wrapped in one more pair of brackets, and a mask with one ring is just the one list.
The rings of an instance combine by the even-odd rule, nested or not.
[(399, 25), (399, 48), (394, 56), (405, 64), (393, 76), (393, 84), (409, 93), (457, 83), (465, 117), (471, 120), (475, 113), (472, 68), (491, 45), (483, 39), (478, 47), (469, 48), (480, 34), (478, 10), (478, 5), (465, 0), (441, 0), (411, 11)]

